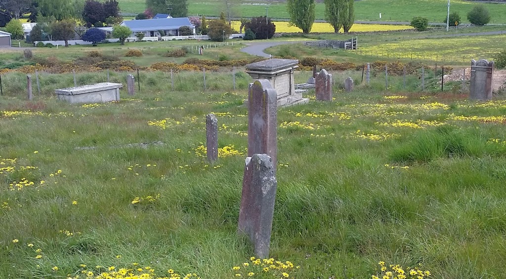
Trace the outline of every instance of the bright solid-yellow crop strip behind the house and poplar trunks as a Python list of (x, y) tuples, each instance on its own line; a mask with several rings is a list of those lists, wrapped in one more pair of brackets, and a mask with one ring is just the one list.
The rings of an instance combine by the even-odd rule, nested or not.
[[(276, 25), (276, 33), (297, 33), (302, 32), (301, 29), (295, 26), (288, 26), (288, 22), (285, 21), (273, 21), (274, 25)], [(241, 23), (239, 21), (232, 21), (232, 28), (234, 30), (239, 30)], [(404, 29), (413, 29), (411, 26), (407, 25), (384, 25), (384, 24), (354, 24), (350, 30), (350, 32), (374, 32), (374, 31), (393, 31), (393, 30), (404, 30)], [(315, 22), (313, 23), (313, 27), (311, 28), (311, 32), (318, 33), (333, 33), (334, 28), (324, 22)], [(343, 32), (343, 29), (341, 29)]]

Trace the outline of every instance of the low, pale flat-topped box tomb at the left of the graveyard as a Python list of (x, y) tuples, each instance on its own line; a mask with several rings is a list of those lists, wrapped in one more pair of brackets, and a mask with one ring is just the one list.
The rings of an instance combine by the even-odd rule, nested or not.
[(119, 101), (121, 83), (102, 82), (78, 87), (56, 89), (58, 100), (69, 103), (107, 103)]

